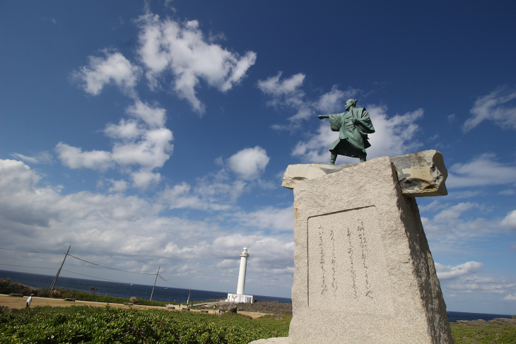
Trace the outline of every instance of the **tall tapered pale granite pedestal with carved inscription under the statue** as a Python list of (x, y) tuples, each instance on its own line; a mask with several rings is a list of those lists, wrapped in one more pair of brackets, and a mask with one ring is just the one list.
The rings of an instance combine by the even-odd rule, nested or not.
[[(453, 343), (418, 206), (404, 195), (409, 186), (400, 186), (406, 171), (383, 157), (317, 177), (289, 177), (303, 179), (292, 187), (289, 343)], [(445, 194), (446, 175), (439, 178), (442, 187), (434, 186)]]

